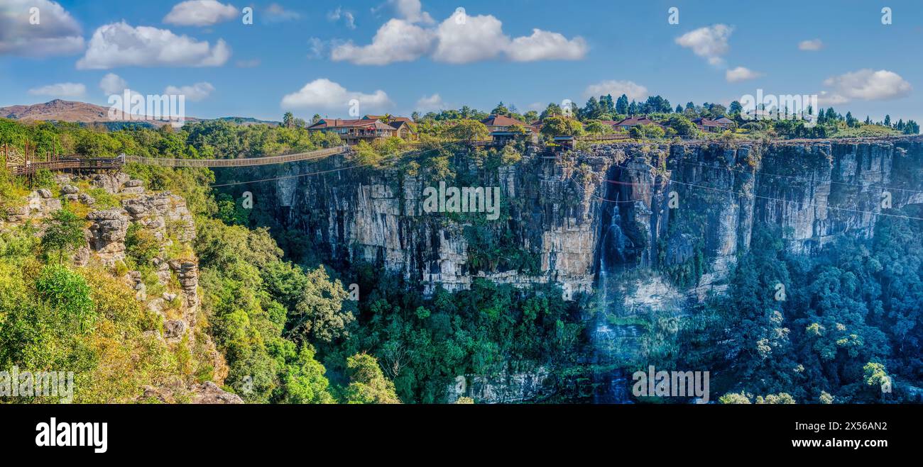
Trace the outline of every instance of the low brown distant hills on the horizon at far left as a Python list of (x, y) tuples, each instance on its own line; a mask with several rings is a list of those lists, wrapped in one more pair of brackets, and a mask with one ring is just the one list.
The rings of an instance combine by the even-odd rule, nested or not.
[[(32, 105), (11, 105), (0, 107), (0, 118), (20, 120), (24, 122), (48, 121), (48, 122), (73, 122), (73, 123), (102, 123), (110, 128), (120, 128), (130, 125), (140, 125), (147, 127), (157, 127), (165, 124), (162, 121), (145, 119), (132, 115), (126, 120), (114, 121), (109, 119), (109, 108), (101, 105), (79, 102), (74, 100), (54, 99), (42, 104)], [(186, 122), (198, 122), (203, 120), (217, 120), (222, 122), (235, 123), (240, 125), (251, 124), (270, 124), (278, 125), (278, 122), (267, 120), (258, 120), (250, 117), (222, 117), (217, 119), (198, 119), (186, 117)]]

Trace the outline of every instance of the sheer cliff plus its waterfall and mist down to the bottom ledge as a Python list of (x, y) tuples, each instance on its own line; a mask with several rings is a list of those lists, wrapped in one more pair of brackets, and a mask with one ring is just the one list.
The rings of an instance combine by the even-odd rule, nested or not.
[[(483, 150), (440, 154), (450, 158), (446, 179), (454, 185), (501, 187), (499, 220), (428, 213), (424, 191), (438, 183), (431, 172), (413, 165), (344, 170), (351, 162), (343, 157), (277, 170), (272, 175), (282, 180), (231, 193), (252, 190), (277, 239), (297, 232), (299, 248), (334, 269), (366, 263), (400, 275), (425, 298), (440, 287), (469, 289), (479, 278), (523, 289), (557, 286), (586, 326), (574, 365), (593, 366), (590, 392), (605, 400), (622, 385), (612, 383), (624, 379), (618, 368), (646, 368), (663, 357), (663, 345), (652, 340), (666, 329), (667, 340), (677, 341), (702, 304), (729, 293), (742, 256), (770, 250), (755, 231), (772, 230), (782, 256), (833, 257), (837, 239), (873, 241), (881, 219), (918, 222), (923, 204), (919, 137), (631, 143), (569, 152), (530, 146), (512, 164), (492, 164)], [(227, 181), (262, 175), (234, 172)], [(779, 297), (781, 290), (784, 298), (795, 290), (785, 275), (766, 279), (761, 293)], [(785, 324), (779, 329), (787, 333), (793, 323)], [(586, 400), (579, 388), (585, 375), (552, 373), (538, 365), (469, 374), (458, 386), (484, 402), (555, 394)], [(449, 392), (450, 399), (461, 395)]]

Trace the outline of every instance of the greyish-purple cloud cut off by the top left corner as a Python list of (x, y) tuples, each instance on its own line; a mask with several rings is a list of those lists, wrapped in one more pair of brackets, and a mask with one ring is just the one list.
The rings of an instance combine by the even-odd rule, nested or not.
[[(39, 8), (39, 24), (30, 24), (30, 8)], [(0, 54), (41, 57), (83, 50), (80, 25), (66, 10), (49, 0), (0, 2)]]

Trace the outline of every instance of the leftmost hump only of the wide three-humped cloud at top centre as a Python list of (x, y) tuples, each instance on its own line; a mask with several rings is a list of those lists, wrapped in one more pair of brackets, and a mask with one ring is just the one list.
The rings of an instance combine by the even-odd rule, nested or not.
[(432, 32), (403, 19), (391, 19), (378, 29), (371, 44), (356, 46), (352, 41), (346, 42), (333, 48), (330, 59), (353, 64), (413, 62), (429, 53), (432, 44)]

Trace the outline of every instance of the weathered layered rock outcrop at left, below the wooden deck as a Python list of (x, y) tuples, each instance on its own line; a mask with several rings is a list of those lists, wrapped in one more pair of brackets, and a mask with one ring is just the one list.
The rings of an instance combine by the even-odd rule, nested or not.
[[(74, 253), (74, 263), (81, 267), (102, 266), (101, 271), (116, 272), (125, 271), (129, 228), (149, 234), (157, 251), (150, 264), (138, 264), (138, 268), (150, 274), (128, 271), (121, 279), (136, 291), (135, 298), (144, 307), (162, 317), (162, 330), (147, 333), (171, 346), (200, 349), (213, 368), (212, 379), (221, 384), (227, 376), (227, 365), (208, 333), (197, 327), (198, 260), (190, 245), (196, 238), (196, 226), (186, 200), (171, 193), (149, 193), (142, 181), (131, 180), (122, 172), (76, 178), (58, 175), (55, 182), (60, 186), (60, 197), (42, 189), (30, 193), (24, 204), (5, 206), (6, 220), (0, 220), (0, 231), (27, 222), (41, 229), (40, 221), (67, 203), (73, 211), (87, 213), (88, 228), (84, 231), (87, 241)], [(102, 206), (89, 193), (82, 193), (90, 188), (102, 189), (113, 196)], [(156, 294), (149, 293), (153, 289)], [(243, 403), (240, 397), (222, 391), (211, 381), (187, 386), (177, 379), (169, 387), (147, 388), (138, 396), (149, 397), (162, 402)]]

